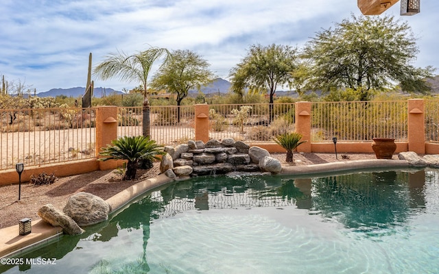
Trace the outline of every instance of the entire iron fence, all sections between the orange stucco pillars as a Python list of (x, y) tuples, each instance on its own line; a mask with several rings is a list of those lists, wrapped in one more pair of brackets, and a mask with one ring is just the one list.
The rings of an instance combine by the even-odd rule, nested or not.
[[(427, 142), (439, 142), (439, 100), (425, 100)], [(209, 105), (209, 137), (273, 142), (295, 130), (294, 103)], [(94, 158), (95, 108), (0, 110), (0, 170)], [(118, 136), (143, 134), (142, 108), (118, 108)], [(195, 138), (195, 106), (152, 106), (151, 138), (177, 145)], [(311, 103), (311, 141), (407, 141), (407, 101)]]

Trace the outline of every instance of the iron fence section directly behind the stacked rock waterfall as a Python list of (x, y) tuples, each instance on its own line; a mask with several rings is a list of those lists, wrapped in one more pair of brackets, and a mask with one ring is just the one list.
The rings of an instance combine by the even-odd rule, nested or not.
[(209, 105), (209, 137), (248, 142), (273, 142), (294, 131), (294, 103)]

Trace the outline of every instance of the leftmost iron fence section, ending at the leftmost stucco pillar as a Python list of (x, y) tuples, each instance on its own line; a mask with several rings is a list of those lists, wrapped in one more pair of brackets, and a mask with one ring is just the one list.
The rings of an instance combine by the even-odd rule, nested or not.
[(0, 110), (0, 170), (95, 157), (95, 109)]

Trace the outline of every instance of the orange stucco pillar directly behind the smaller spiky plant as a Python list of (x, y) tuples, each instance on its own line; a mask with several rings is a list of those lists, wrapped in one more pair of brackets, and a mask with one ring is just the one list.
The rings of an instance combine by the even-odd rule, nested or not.
[(307, 142), (297, 147), (298, 152), (311, 152), (311, 103), (296, 103), (296, 132), (302, 134), (301, 140)]

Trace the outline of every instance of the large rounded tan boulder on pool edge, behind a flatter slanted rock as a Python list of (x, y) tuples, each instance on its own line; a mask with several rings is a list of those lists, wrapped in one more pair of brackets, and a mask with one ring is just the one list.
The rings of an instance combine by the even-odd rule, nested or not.
[(86, 226), (107, 220), (110, 206), (101, 197), (79, 192), (69, 198), (63, 211), (78, 225)]

